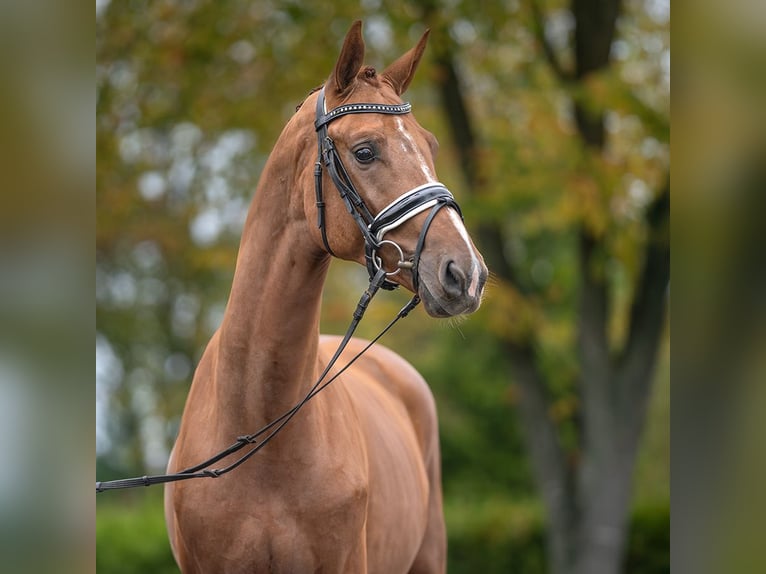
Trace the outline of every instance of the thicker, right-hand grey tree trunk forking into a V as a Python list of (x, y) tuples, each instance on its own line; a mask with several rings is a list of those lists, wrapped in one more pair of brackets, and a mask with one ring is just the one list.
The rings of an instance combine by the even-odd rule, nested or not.
[(568, 572), (621, 571), (630, 526), (633, 471), (646, 420), (670, 278), (669, 183), (647, 212), (649, 240), (622, 353), (606, 338), (607, 296), (594, 272), (595, 244), (581, 242), (579, 347), (582, 367), (583, 460), (578, 473), (577, 554)]

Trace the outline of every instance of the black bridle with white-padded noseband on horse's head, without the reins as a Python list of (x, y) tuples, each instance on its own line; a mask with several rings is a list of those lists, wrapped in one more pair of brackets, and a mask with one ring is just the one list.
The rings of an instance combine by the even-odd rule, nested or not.
[[(354, 218), (354, 221), (356, 221), (357, 226), (362, 232), (365, 244), (364, 257), (365, 263), (367, 264), (367, 271), (370, 274), (370, 280), (373, 279), (375, 274), (383, 266), (383, 261), (380, 256), (378, 256), (378, 250), (380, 250), (383, 245), (390, 245), (398, 252), (399, 261), (397, 263), (397, 268), (394, 271), (389, 272), (384, 270), (386, 277), (396, 275), (402, 269), (410, 269), (412, 272), (413, 288), (417, 294), (419, 287), (418, 263), (420, 262), (420, 255), (425, 244), (426, 233), (437, 212), (442, 207), (453, 207), (462, 217), (460, 207), (457, 202), (455, 202), (455, 198), (441, 183), (425, 183), (404, 193), (384, 207), (380, 213), (373, 216), (372, 212), (365, 204), (364, 199), (354, 187), (346, 168), (343, 166), (343, 162), (338, 155), (335, 143), (327, 134), (328, 124), (341, 116), (365, 113), (403, 115), (410, 113), (411, 109), (412, 106), (409, 103), (396, 105), (356, 103), (344, 104), (327, 112), (325, 111), (324, 88), (322, 88), (319, 92), (319, 97), (317, 98), (316, 121), (314, 122), (319, 149), (317, 161), (314, 166), (314, 189), (316, 191), (317, 225), (322, 232), (322, 242), (324, 243), (327, 252), (330, 255), (335, 255), (327, 241), (327, 225), (324, 212), (325, 202), (322, 196), (323, 164), (327, 168), (333, 183), (335, 183), (335, 187), (338, 189), (340, 197), (346, 205), (346, 209)], [(431, 212), (423, 223), (423, 228), (420, 231), (420, 236), (418, 237), (418, 242), (415, 247), (415, 253), (408, 260), (405, 260), (402, 248), (393, 241), (384, 239), (384, 236), (389, 231), (396, 229), (406, 221), (428, 209), (430, 209)], [(383, 289), (391, 290), (398, 287), (398, 284), (385, 280), (381, 287)]]

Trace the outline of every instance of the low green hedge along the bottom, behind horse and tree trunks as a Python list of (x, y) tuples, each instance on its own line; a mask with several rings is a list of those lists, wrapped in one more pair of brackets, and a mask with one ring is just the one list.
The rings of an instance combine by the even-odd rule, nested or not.
[[(445, 514), (450, 574), (546, 574), (544, 525), (537, 505), (492, 499), (447, 501)], [(100, 574), (178, 573), (165, 533), (161, 497), (99, 501), (96, 567)], [(637, 509), (625, 573), (668, 572), (669, 507)]]

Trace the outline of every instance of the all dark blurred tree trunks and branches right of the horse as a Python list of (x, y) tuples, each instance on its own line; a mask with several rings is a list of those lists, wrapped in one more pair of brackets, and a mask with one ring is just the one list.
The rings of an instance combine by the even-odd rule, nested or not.
[[(578, 82), (609, 64), (619, 14), (619, 0), (573, 0), (576, 19), (576, 69), (564, 70), (544, 36), (544, 22), (531, 1), (535, 32), (562, 82)], [(424, 19), (433, 6), (424, 2)], [(437, 31), (438, 33), (438, 31)], [(479, 144), (448, 34), (435, 43), (436, 86), (457, 146), (468, 188), (480, 195)], [(572, 102), (575, 122), (591, 153), (605, 144), (603, 112)], [(552, 574), (617, 574), (628, 534), (632, 477), (646, 405), (665, 321), (665, 291), (670, 275), (668, 243), (669, 183), (647, 213), (650, 240), (644, 269), (635, 289), (628, 340), (615, 355), (607, 338), (608, 285), (597, 270), (604, 245), (583, 229), (580, 237), (582, 277), (578, 309), (581, 428), (579, 458), (562, 448), (549, 415), (546, 382), (538, 368), (534, 341), (506, 341), (511, 376), (520, 389), (519, 414), (534, 471), (547, 511), (546, 548)], [(478, 241), (493, 274), (523, 293), (505, 256), (505, 232), (482, 222)], [(511, 320), (509, 318), (509, 320)]]

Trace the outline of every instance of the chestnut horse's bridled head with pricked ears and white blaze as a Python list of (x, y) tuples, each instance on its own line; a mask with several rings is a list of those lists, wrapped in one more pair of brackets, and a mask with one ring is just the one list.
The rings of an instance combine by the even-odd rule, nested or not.
[(430, 315), (450, 317), (479, 307), (487, 268), (436, 178), (436, 138), (400, 98), (427, 38), (377, 73), (363, 65), (361, 22), (351, 27), (311, 100), (319, 161), (304, 204), (322, 249), (366, 264), (371, 275), (382, 267), (389, 286), (417, 292)]

